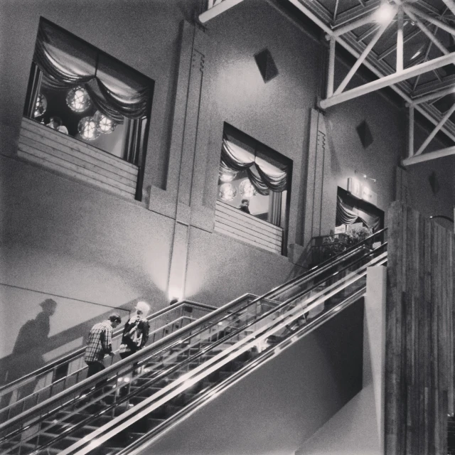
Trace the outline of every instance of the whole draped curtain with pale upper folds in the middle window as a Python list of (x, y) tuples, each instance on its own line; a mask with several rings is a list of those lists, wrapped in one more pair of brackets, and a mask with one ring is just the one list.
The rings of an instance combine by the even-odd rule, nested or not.
[(247, 171), (252, 186), (262, 196), (267, 196), (270, 190), (281, 193), (287, 189), (286, 170), (277, 171), (267, 161), (235, 146), (226, 137), (221, 149), (221, 166), (234, 171)]

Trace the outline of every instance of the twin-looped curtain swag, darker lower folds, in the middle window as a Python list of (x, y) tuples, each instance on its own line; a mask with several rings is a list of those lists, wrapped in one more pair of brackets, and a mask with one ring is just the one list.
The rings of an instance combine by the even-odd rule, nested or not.
[(236, 156), (230, 143), (223, 138), (221, 149), (221, 166), (234, 171), (247, 171), (247, 176), (255, 187), (256, 191), (262, 196), (267, 196), (269, 191), (282, 193), (287, 189), (287, 172), (269, 173), (264, 171), (262, 166), (258, 166), (255, 159), (243, 161), (240, 156)]

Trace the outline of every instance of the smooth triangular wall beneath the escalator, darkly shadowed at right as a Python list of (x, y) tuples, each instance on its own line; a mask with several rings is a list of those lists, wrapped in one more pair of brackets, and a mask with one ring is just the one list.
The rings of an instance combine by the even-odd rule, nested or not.
[(291, 455), (362, 387), (363, 299), (170, 429), (142, 454)]

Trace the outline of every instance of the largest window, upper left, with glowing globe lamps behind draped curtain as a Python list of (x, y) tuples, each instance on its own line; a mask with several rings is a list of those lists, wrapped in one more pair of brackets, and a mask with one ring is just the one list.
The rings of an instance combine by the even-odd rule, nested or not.
[(154, 82), (41, 19), (24, 114), (141, 166)]

